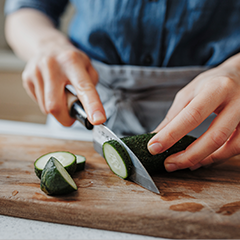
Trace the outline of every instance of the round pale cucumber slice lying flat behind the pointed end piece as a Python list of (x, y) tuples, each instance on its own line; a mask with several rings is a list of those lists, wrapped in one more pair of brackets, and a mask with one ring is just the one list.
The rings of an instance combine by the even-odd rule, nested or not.
[(76, 156), (74, 154), (66, 151), (50, 152), (42, 155), (34, 162), (34, 170), (38, 178), (41, 179), (42, 171), (51, 157), (55, 157), (64, 166), (70, 175), (75, 172), (77, 168), (77, 162)]

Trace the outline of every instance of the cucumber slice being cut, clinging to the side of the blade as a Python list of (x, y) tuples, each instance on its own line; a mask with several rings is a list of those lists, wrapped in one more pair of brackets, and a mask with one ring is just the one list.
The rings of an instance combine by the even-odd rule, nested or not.
[(119, 177), (126, 179), (132, 169), (132, 161), (120, 143), (110, 140), (103, 144), (103, 155), (110, 169)]

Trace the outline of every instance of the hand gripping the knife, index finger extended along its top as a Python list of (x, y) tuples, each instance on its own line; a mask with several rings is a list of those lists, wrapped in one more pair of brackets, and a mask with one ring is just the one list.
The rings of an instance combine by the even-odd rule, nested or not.
[(75, 121), (69, 116), (65, 86), (73, 85), (87, 113), (96, 125), (106, 121), (105, 111), (96, 91), (97, 71), (89, 57), (69, 44), (48, 43), (31, 58), (22, 74), (23, 86), (45, 114), (52, 114), (62, 125)]

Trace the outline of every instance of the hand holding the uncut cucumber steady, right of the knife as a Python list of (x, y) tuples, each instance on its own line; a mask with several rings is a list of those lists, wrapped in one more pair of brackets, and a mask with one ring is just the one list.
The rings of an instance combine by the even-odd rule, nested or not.
[(197, 76), (179, 91), (148, 149), (158, 154), (196, 128), (211, 113), (209, 129), (186, 150), (169, 156), (165, 168), (195, 170), (240, 154), (240, 54)]

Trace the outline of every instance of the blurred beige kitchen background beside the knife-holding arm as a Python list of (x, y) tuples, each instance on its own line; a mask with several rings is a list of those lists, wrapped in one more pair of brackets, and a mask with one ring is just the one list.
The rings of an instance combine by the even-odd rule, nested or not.
[[(22, 87), (21, 75), (25, 62), (14, 55), (6, 42), (4, 4), (5, 0), (0, 0), (0, 119), (45, 123), (46, 115), (41, 113)], [(61, 21), (61, 30), (65, 34), (73, 13), (69, 4)]]

